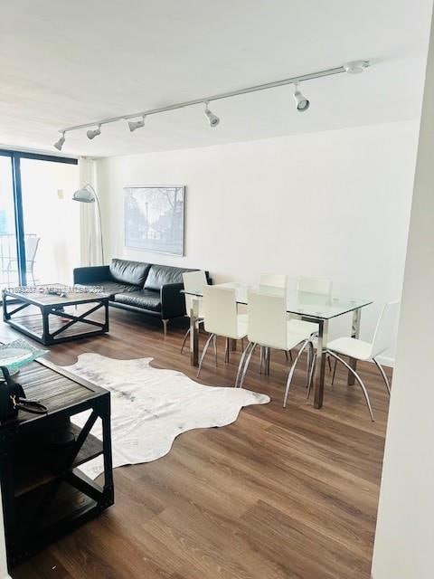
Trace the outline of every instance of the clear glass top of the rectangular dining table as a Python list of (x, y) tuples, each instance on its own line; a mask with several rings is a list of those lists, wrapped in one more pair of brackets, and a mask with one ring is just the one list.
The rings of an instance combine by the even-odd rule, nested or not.
[[(258, 291), (268, 296), (284, 296), (287, 299), (287, 311), (290, 314), (306, 318), (330, 319), (342, 316), (354, 309), (363, 308), (373, 303), (371, 299), (344, 298), (334, 295), (316, 294), (310, 291), (297, 291), (295, 289), (272, 288), (270, 286), (252, 286), (245, 283), (229, 281), (227, 283), (216, 284), (219, 288), (235, 289), (235, 298), (239, 304), (248, 303), (249, 291)], [(197, 288), (195, 291), (186, 291), (190, 296), (201, 298), (203, 289)]]

